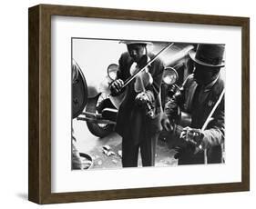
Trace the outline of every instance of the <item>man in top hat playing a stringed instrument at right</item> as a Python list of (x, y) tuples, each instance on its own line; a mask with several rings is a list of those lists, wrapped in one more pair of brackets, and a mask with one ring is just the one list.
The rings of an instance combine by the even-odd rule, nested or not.
[[(191, 115), (191, 124), (179, 135), (185, 140), (177, 149), (178, 164), (218, 164), (223, 160), (224, 96), (221, 98), (220, 95), (224, 82), (220, 68), (224, 66), (224, 49), (225, 45), (202, 44), (198, 45), (196, 52), (190, 52), (194, 62), (193, 74), (165, 105), (169, 119), (163, 119), (162, 124), (167, 130), (172, 130), (180, 111)], [(214, 106), (217, 108), (209, 118)], [(207, 120), (210, 123), (201, 130)]]

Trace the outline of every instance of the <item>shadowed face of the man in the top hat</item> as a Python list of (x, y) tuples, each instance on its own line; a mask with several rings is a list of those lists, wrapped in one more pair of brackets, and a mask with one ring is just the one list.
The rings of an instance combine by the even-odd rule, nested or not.
[(220, 68), (194, 64), (194, 79), (199, 85), (208, 85), (219, 75)]

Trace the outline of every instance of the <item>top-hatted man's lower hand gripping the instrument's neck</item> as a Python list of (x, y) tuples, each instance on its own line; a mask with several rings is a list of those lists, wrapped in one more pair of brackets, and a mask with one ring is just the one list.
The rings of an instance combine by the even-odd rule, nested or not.
[(202, 144), (204, 134), (200, 129), (185, 127), (179, 135), (179, 138), (182, 138), (196, 146), (200, 146), (200, 144)]

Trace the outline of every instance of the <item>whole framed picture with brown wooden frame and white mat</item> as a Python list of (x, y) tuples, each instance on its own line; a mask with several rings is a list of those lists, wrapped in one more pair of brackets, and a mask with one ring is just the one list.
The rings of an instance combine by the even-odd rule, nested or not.
[(250, 190), (250, 18), (206, 14), (29, 8), (30, 201)]

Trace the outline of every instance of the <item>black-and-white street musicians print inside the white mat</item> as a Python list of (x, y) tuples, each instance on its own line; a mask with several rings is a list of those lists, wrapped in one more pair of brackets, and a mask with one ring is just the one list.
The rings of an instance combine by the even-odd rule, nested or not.
[(72, 170), (225, 164), (225, 46), (72, 37)]

